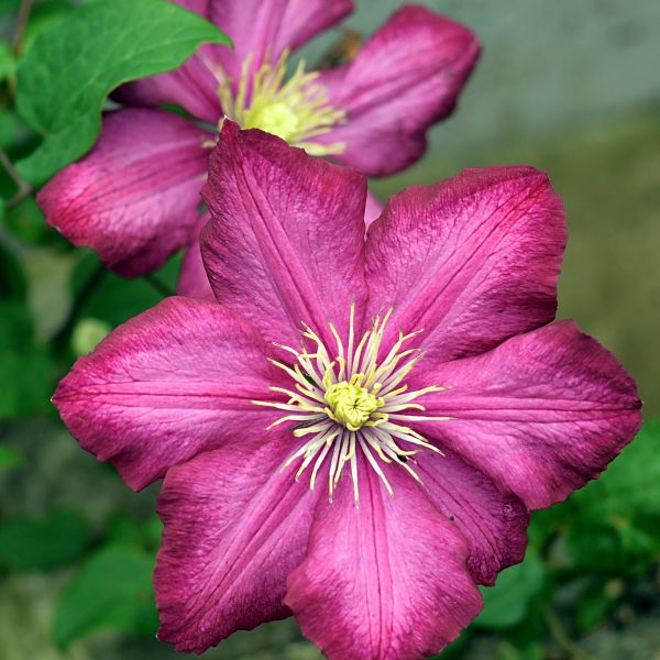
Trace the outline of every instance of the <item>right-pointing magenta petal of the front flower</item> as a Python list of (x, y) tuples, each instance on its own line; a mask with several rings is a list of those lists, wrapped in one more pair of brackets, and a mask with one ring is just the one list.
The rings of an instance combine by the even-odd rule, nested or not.
[(566, 497), (595, 479), (640, 426), (635, 382), (570, 321), (513, 338), (477, 358), (427, 366), (425, 382), (450, 387), (426, 397), (419, 425), (529, 508)]

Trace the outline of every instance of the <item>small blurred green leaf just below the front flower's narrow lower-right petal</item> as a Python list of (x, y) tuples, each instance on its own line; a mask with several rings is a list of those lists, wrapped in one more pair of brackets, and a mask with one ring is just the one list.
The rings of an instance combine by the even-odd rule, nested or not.
[(543, 583), (543, 564), (536, 554), (528, 552), (522, 563), (499, 574), (495, 586), (482, 588), (484, 609), (474, 625), (498, 630), (521, 623)]

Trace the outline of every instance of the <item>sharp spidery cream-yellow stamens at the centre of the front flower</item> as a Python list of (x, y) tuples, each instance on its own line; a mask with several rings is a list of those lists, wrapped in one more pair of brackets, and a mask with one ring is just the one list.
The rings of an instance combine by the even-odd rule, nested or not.
[(442, 453), (407, 425), (421, 420), (452, 419), (419, 415), (425, 407), (415, 403), (425, 394), (446, 388), (430, 385), (409, 392), (404, 382), (422, 358), (417, 349), (405, 348), (419, 331), (409, 334), (399, 332), (392, 349), (381, 355), (391, 314), (392, 310), (383, 318), (376, 317), (372, 329), (364, 333), (355, 346), (354, 308), (351, 307), (345, 345), (336, 327), (329, 324), (337, 344), (333, 358), (318, 334), (304, 326), (299, 350), (277, 344), (294, 356), (293, 364), (272, 361), (292, 378), (290, 388), (271, 387), (272, 392), (284, 394), (286, 403), (252, 402), (283, 410), (285, 415), (271, 427), (293, 422), (293, 436), (306, 439), (283, 468), (299, 461), (296, 481), (310, 468), (309, 487), (314, 490), (321, 465), (329, 461), (330, 502), (348, 465), (355, 506), (359, 505), (358, 452), (364, 455), (391, 494), (393, 491), (383, 472), (383, 463), (396, 464), (413, 479), (421, 481), (411, 465), (415, 463), (414, 457), (425, 449)]

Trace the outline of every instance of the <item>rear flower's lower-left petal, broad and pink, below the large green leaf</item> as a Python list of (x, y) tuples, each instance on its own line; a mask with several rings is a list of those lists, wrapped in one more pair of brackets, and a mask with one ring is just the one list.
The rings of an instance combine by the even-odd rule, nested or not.
[(47, 222), (129, 277), (158, 268), (190, 240), (209, 135), (158, 110), (120, 110), (94, 148), (38, 194)]

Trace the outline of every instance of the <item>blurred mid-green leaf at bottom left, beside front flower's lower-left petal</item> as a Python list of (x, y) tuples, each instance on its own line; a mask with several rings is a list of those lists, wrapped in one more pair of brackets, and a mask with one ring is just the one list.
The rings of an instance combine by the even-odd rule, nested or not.
[(158, 619), (152, 588), (154, 559), (125, 544), (92, 554), (74, 575), (55, 607), (58, 647), (97, 630), (113, 628), (155, 635)]

